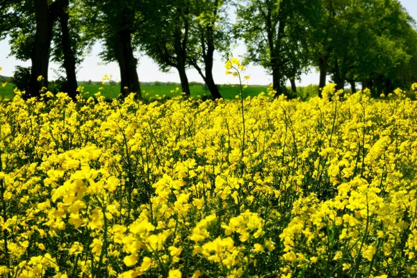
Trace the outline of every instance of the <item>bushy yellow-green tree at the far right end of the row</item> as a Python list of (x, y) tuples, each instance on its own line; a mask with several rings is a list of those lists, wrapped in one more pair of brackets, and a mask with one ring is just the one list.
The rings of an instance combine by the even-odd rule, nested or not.
[[(416, 76), (415, 22), (398, 1), (373, 1), (364, 8), (373, 44), (363, 49), (354, 74), (373, 95), (387, 95), (395, 87), (409, 88)], [(366, 65), (368, 64), (368, 66)]]

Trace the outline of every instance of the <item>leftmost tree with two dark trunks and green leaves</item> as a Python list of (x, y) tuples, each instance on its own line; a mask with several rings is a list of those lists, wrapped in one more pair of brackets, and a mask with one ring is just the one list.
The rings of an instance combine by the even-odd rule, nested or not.
[[(3, 3), (3, 13), (0, 15), (3, 23), (0, 24), (0, 33), (3, 37), (10, 35), (12, 45), (12, 55), (20, 60), (30, 59), (32, 62), (31, 77), (28, 81), (28, 97), (40, 95), (42, 85), (48, 84), (49, 58), (51, 56), (51, 42), (54, 37), (54, 26), (60, 22), (62, 35), (60, 44), (56, 48), (64, 49), (63, 67), (67, 72), (67, 82), (65, 88), (70, 97), (75, 99), (76, 59), (72, 49), (72, 36), (70, 35), (68, 0), (57, 0), (49, 2), (47, 0), (34, 1), (6, 1)], [(4, 22), (9, 22), (5, 24)], [(1, 37), (1, 35), (0, 35)], [(38, 77), (42, 76), (42, 85)]]

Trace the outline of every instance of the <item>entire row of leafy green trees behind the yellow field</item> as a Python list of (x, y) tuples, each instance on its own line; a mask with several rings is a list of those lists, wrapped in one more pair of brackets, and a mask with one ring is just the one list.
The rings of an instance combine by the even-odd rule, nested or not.
[[(230, 10), (236, 10), (231, 23)], [(398, 0), (3, 0), (0, 39), (10, 37), (11, 55), (31, 60), (28, 74), (15, 72), (28, 96), (48, 84), (49, 61), (60, 64), (64, 92), (76, 97), (76, 67), (92, 45), (120, 67), (121, 93), (141, 97), (135, 51), (143, 51), (164, 72), (179, 73), (190, 95), (186, 69), (194, 67), (214, 99), (215, 51), (230, 57), (243, 40), (244, 63), (272, 75), (276, 95), (285, 83), (316, 67), (319, 88), (327, 76), (337, 89), (357, 83), (374, 95), (407, 88), (417, 80), (417, 31)], [(38, 76), (43, 76), (40, 83)], [(27, 79), (27, 80), (26, 80)], [(129, 90), (123, 90), (124, 87)], [(320, 95), (320, 91), (319, 91)]]

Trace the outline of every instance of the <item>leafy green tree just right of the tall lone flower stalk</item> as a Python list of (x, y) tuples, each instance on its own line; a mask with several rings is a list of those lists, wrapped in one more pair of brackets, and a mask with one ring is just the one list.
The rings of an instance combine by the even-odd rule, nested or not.
[(316, 1), (247, 0), (237, 3), (236, 33), (247, 46), (247, 60), (272, 73), (277, 95), (284, 93), (286, 74), (295, 79), (302, 71), (302, 37), (316, 10)]

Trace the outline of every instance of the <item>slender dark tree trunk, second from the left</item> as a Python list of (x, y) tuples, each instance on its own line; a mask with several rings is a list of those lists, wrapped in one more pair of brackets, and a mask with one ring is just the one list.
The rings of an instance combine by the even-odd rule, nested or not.
[(67, 92), (67, 94), (75, 101), (76, 95), (78, 95), (78, 92), (76, 91), (76, 58), (75, 53), (72, 49), (70, 28), (68, 26), (69, 16), (67, 9), (69, 8), (69, 4), (70, 3), (68, 0), (63, 1), (63, 9), (60, 11), (59, 15), (60, 26), (63, 35), (61, 40), (64, 54), (63, 66), (67, 74), (67, 81), (65, 83), (63, 91)]

